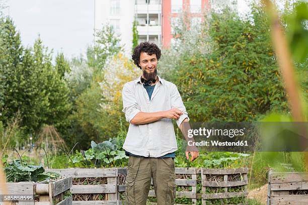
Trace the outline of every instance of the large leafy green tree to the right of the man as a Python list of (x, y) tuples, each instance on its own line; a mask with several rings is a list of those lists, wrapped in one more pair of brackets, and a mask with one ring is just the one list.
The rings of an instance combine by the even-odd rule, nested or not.
[[(251, 121), (289, 111), (268, 25), (260, 7), (252, 8), (252, 19), (229, 10), (205, 19), (194, 36), (198, 49), (182, 48), (186, 55), (179, 53), (182, 58), (168, 76), (192, 120)], [(198, 51), (202, 47), (204, 53)]]

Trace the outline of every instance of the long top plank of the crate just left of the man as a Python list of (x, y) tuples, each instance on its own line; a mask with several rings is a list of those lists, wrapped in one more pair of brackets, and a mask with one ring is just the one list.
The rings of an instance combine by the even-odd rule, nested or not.
[(46, 171), (53, 171), (62, 176), (72, 176), (73, 178), (85, 177), (116, 177), (117, 168), (97, 168), (97, 169), (47, 169)]

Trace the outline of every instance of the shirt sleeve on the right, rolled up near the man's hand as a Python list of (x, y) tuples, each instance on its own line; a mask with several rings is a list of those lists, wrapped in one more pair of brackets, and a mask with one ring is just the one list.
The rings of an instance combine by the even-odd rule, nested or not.
[(188, 113), (186, 112), (182, 97), (175, 84), (173, 84), (171, 89), (171, 108), (177, 108), (183, 113), (183, 115), (180, 116), (179, 120), (176, 120), (178, 127), (180, 127), (185, 118), (187, 118), (187, 120), (189, 121)]

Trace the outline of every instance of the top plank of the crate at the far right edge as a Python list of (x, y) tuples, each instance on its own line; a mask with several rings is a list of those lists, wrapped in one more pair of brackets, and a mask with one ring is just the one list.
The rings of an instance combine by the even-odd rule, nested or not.
[(269, 174), (270, 183), (289, 183), (308, 181), (308, 172), (272, 172)]

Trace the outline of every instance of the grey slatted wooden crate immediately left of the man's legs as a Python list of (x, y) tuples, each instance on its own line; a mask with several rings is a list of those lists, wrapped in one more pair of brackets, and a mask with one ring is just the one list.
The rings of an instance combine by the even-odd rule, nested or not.
[[(76, 168), (76, 169), (49, 169), (62, 176), (72, 176), (71, 193), (73, 194), (73, 205), (101, 205), (117, 204), (117, 168)], [(91, 180), (94, 184), (77, 184), (78, 181)], [(103, 181), (103, 184), (95, 184)], [(103, 198), (98, 198), (103, 196)], [(83, 200), (76, 200), (77, 198)], [(93, 200), (95, 198), (95, 200)]]

